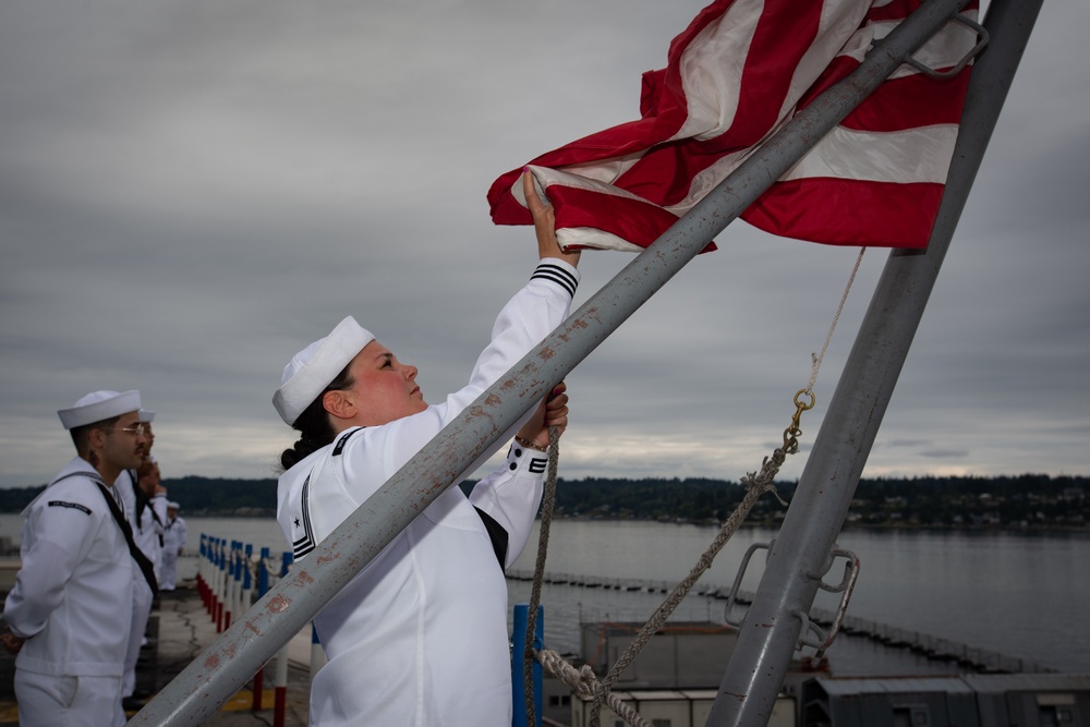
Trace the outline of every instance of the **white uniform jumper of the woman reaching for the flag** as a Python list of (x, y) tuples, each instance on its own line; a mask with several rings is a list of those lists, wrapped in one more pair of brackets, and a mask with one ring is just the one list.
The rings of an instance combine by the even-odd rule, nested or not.
[[(578, 275), (562, 260), (542, 260), (500, 312), (464, 388), (421, 413), (348, 429), (280, 477), (277, 519), (296, 558), (562, 323)], [(317, 614), (328, 663), (312, 684), (312, 726), (511, 724), (507, 583), (497, 556), (507, 567), (522, 552), (545, 469), (544, 452), (513, 446), (471, 497), (449, 487)]]

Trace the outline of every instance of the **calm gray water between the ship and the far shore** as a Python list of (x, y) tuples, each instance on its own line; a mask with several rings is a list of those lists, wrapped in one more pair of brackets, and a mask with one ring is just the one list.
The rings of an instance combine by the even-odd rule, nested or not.
[[(274, 520), (186, 520), (189, 549), (207, 533), (276, 554), (284, 549)], [(650, 522), (553, 523), (547, 570), (625, 580), (681, 580), (716, 534), (714, 528)], [(19, 518), (0, 514), (0, 536), (19, 542)], [(771, 530), (743, 530), (719, 553), (700, 585), (729, 586), (742, 555), (767, 543)], [(1063, 671), (1090, 673), (1090, 534), (936, 533), (855, 531), (841, 548), (862, 562), (848, 615), (966, 643)], [(537, 531), (517, 569), (532, 571)], [(755, 591), (763, 552), (752, 559), (742, 587)], [(195, 572), (195, 558), (181, 564)], [(840, 568), (838, 565), (836, 568)], [(839, 572), (839, 571), (837, 571)], [(829, 577), (829, 580), (833, 580)], [(526, 602), (530, 585), (510, 583), (511, 601)], [(823, 594), (824, 595), (824, 594)], [(644, 621), (662, 594), (547, 586), (545, 639), (562, 652), (579, 647), (581, 619)], [(832, 601), (819, 602), (832, 607)], [(723, 602), (690, 595), (676, 611), (682, 620), (722, 620)], [(841, 635), (828, 653), (837, 674), (949, 673), (945, 664)]]

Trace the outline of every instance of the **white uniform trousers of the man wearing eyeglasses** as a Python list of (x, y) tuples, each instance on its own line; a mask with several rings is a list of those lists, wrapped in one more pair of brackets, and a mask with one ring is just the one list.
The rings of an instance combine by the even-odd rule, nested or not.
[(121, 727), (121, 677), (52, 676), (15, 669), (20, 727)]

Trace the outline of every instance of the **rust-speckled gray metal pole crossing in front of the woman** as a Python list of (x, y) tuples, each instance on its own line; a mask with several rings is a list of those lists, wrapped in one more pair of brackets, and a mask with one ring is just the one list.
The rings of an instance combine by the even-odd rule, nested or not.
[(967, 0), (929, 0), (848, 78), (756, 149), (481, 395), (148, 702), (130, 725), (209, 719), (461, 472), (930, 38)]

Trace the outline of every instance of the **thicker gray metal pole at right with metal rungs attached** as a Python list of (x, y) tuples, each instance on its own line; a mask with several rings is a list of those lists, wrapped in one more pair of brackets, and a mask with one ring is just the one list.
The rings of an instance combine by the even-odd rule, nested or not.
[(993, 0), (927, 252), (893, 251), (773, 543), (707, 725), (766, 725), (1043, 0)]

